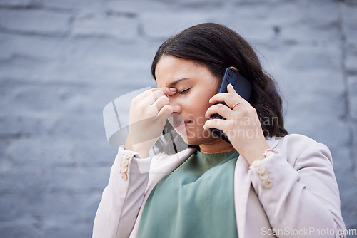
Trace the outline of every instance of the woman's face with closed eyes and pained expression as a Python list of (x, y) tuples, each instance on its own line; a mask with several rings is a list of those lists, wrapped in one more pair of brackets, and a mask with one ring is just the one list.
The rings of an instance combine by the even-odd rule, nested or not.
[[(208, 100), (217, 93), (219, 78), (206, 66), (195, 61), (162, 56), (155, 69), (158, 87), (174, 87), (177, 93), (169, 96), (174, 113), (169, 122), (189, 145), (210, 143), (217, 136), (203, 130), (211, 106)], [(217, 139), (216, 139), (217, 140)]]

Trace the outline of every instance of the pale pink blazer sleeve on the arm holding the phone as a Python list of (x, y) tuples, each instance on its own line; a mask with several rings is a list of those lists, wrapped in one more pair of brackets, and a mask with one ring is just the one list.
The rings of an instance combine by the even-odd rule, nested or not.
[(311, 139), (306, 146), (278, 151), (250, 166), (248, 175), (271, 227), (283, 231), (277, 237), (345, 237), (326, 145)]

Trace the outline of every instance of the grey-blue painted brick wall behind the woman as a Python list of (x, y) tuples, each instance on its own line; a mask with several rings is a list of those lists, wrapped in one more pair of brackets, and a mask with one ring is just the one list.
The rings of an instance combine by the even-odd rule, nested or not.
[(116, 148), (110, 100), (155, 86), (167, 37), (215, 21), (257, 49), (290, 133), (331, 149), (357, 229), (357, 1), (0, 0), (0, 237), (90, 237)]

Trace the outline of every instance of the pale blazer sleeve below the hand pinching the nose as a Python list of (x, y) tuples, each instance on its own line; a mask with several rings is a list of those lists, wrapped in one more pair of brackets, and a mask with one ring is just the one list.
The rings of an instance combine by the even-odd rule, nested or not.
[(144, 200), (151, 157), (119, 148), (94, 219), (93, 237), (129, 237)]

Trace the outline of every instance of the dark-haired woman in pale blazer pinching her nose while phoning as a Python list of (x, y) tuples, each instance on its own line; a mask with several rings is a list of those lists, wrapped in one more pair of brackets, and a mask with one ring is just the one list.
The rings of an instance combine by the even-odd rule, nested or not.
[[(249, 101), (231, 86), (216, 94), (228, 67), (251, 81)], [(241, 36), (192, 26), (160, 46), (151, 73), (158, 88), (131, 103), (93, 237), (340, 237), (331, 154), (288, 135), (274, 81)], [(150, 157), (166, 120), (190, 146)]]

